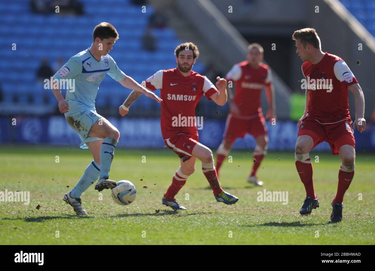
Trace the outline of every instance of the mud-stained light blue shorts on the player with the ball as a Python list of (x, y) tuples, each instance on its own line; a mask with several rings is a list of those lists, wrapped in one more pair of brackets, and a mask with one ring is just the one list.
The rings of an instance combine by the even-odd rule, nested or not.
[(80, 148), (88, 149), (86, 143), (102, 140), (89, 136), (89, 132), (94, 123), (102, 116), (96, 112), (95, 108), (87, 107), (76, 101), (66, 99), (69, 103), (69, 111), (65, 113), (65, 119), (69, 125), (78, 133), (81, 139)]

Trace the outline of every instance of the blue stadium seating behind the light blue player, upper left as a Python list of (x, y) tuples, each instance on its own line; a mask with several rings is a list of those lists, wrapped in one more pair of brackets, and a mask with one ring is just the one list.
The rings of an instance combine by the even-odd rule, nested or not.
[[(35, 14), (26, 0), (0, 2), (3, 13), (0, 22), (11, 25), (0, 29), (1, 36), (7, 37), (0, 41), (0, 46), (9, 48), (3, 50), (0, 61), (3, 102), (57, 104), (52, 92), (36, 82), (36, 71), (41, 60), (47, 58), (51, 66), (60, 57), (68, 61), (91, 45), (93, 28), (102, 21), (111, 22), (117, 28), (120, 39), (114, 45), (111, 56), (120, 69), (136, 81), (147, 79), (157, 70), (175, 67), (173, 49), (181, 40), (177, 39), (173, 29), (153, 28), (151, 33), (156, 37), (157, 50), (147, 52), (142, 49), (141, 37), (149, 17), (154, 13), (152, 6), (147, 5), (146, 12), (142, 13), (142, 7), (133, 6), (129, 0), (81, 2), (85, 12), (82, 16)], [(11, 49), (9, 40), (16, 44), (16, 50)], [(197, 61), (194, 70), (202, 72), (204, 67)], [(110, 103), (111, 106), (118, 106), (129, 93), (130, 90), (107, 76), (100, 85), (96, 105), (104, 107)], [(156, 106), (159, 105), (155, 101), (141, 96), (133, 108)]]

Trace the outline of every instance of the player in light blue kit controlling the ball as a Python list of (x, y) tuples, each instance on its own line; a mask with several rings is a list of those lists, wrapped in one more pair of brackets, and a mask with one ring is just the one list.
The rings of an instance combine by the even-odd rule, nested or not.
[[(66, 97), (59, 88), (52, 87), (58, 101), (58, 108), (64, 113), (69, 125), (78, 133), (82, 142), (80, 148), (89, 148), (94, 160), (87, 166), (81, 179), (64, 195), (64, 201), (70, 204), (78, 215), (86, 215), (80, 196), (96, 180), (95, 189), (112, 189), (116, 182), (109, 179), (111, 163), (120, 133), (95, 109), (95, 98), (99, 85), (108, 73), (114, 80), (126, 88), (144, 93), (147, 97), (162, 100), (152, 91), (139, 85), (131, 77), (118, 69), (113, 58), (108, 55), (118, 39), (116, 29), (108, 22), (98, 24), (93, 32), (91, 47), (74, 55), (53, 76), (53, 79), (68, 79), (72, 90), (66, 91)], [(66, 82), (66, 81), (65, 81)]]

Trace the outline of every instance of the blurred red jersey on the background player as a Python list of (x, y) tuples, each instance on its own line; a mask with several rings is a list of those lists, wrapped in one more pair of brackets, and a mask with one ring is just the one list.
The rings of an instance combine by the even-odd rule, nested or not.
[(244, 117), (256, 117), (262, 112), (260, 97), (265, 85), (271, 84), (271, 70), (269, 66), (259, 63), (258, 69), (249, 65), (249, 61), (235, 64), (227, 73), (225, 79), (236, 84), (234, 103)]

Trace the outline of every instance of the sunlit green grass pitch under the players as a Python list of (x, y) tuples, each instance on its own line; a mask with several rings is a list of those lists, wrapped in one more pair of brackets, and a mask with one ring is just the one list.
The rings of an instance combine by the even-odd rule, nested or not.
[[(375, 244), (374, 154), (357, 154), (356, 174), (344, 198), (344, 219), (336, 224), (328, 222), (337, 189), (338, 156), (311, 152), (320, 208), (301, 217), (305, 189), (293, 153), (267, 155), (258, 172), (262, 188), (246, 183), (251, 154), (231, 152), (233, 163), (225, 162), (220, 172), (222, 187), (240, 198), (236, 205), (215, 201), (197, 162), (196, 172), (177, 195), (187, 211), (172, 211), (161, 198), (179, 166), (178, 157), (167, 148), (118, 148), (111, 178), (132, 181), (135, 202), (117, 205), (109, 190), (99, 200), (91, 186), (81, 197), (89, 216), (77, 217), (62, 198), (92, 160), (88, 150), (3, 145), (0, 191), (30, 191), (31, 200), (29, 205), (0, 202), (0, 244)], [(314, 162), (316, 155), (319, 163)], [(257, 192), (263, 189), (288, 191), (288, 204), (258, 202)]]

